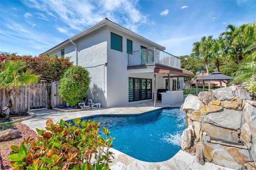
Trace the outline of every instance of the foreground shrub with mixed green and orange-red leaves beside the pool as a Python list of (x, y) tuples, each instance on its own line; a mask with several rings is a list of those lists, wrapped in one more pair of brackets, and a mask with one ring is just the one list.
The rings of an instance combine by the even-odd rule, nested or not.
[(80, 118), (73, 122), (54, 124), (48, 119), (46, 130), (36, 129), (36, 142), (29, 137), (11, 146), (10, 165), (17, 170), (108, 170), (114, 139), (108, 137), (110, 131), (103, 128), (104, 139), (98, 134), (100, 123)]

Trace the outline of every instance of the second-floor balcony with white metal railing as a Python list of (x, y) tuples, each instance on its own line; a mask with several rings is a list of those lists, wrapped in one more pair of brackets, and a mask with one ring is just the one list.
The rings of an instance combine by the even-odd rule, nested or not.
[(128, 53), (128, 66), (162, 64), (180, 69), (180, 59), (157, 48), (142, 49)]

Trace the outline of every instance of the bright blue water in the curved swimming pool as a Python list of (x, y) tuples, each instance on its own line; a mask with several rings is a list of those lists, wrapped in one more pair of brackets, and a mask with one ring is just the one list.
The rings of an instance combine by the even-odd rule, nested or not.
[[(136, 115), (96, 115), (82, 120), (100, 122), (114, 137), (113, 148), (146, 162), (162, 162), (180, 150), (186, 113), (166, 108)], [(102, 135), (104, 136), (104, 135)]]

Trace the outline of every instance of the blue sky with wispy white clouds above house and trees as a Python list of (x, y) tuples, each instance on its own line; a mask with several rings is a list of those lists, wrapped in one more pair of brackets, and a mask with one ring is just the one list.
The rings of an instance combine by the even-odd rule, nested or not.
[(254, 22), (256, 0), (0, 0), (0, 51), (38, 56), (105, 17), (189, 55), (202, 36)]

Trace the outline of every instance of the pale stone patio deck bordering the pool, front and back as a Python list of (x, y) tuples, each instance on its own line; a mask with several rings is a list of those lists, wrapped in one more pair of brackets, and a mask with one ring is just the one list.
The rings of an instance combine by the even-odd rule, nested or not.
[[(60, 121), (60, 119), (66, 121), (78, 117), (98, 114), (135, 114), (160, 109), (162, 107), (181, 107), (181, 105), (182, 103), (166, 105), (157, 101), (156, 107), (154, 107), (153, 101), (146, 101), (121, 107), (101, 108), (78, 112), (59, 112), (48, 109), (36, 109), (31, 110), (32, 113), (36, 114), (36, 117), (22, 121), (22, 123), (28, 125), (31, 129), (36, 130), (36, 128), (44, 128), (48, 119), (52, 119), (54, 123), (56, 123), (57, 121)], [(111, 151), (114, 152), (114, 159), (112, 160), (112, 163), (109, 164), (111, 170), (232, 170), (231, 168), (217, 166), (207, 162), (204, 166), (200, 165), (196, 162), (195, 156), (183, 152), (182, 150), (180, 150), (174, 157), (164, 162), (144, 162), (136, 160), (114, 148), (111, 148)]]

